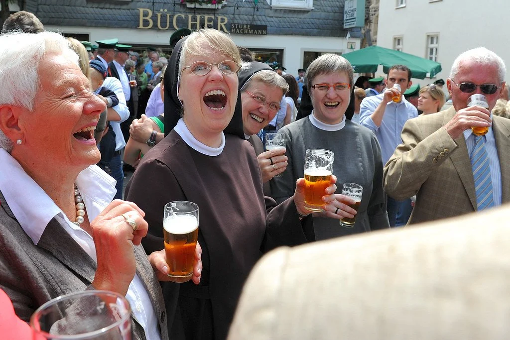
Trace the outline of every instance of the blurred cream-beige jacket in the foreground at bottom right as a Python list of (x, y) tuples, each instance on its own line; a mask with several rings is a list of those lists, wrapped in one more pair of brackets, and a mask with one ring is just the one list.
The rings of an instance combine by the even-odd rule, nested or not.
[(510, 205), (259, 261), (229, 340), (508, 339)]

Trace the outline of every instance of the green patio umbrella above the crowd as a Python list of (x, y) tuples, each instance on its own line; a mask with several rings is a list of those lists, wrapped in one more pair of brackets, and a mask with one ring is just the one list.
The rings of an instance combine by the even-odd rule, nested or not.
[(382, 65), (384, 72), (388, 73), (390, 67), (397, 64), (409, 67), (413, 78), (418, 79), (425, 79), (427, 73), (429, 77), (433, 77), (441, 71), (441, 64), (438, 62), (380, 46), (362, 48), (342, 57), (351, 63), (357, 73), (374, 73), (378, 65)]

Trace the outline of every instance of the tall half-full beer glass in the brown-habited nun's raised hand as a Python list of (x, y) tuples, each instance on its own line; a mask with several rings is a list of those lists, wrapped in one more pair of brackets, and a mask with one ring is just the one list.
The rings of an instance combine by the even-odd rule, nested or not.
[(304, 207), (311, 212), (324, 211), (322, 196), (331, 185), (335, 153), (329, 150), (308, 149), (304, 158)]

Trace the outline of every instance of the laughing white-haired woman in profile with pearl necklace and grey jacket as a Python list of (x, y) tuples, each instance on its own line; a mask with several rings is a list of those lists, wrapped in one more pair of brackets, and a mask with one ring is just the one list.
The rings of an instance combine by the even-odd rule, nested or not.
[[(167, 338), (164, 252), (147, 260), (145, 213), (111, 202), (115, 180), (94, 165), (105, 103), (77, 54), (56, 33), (4, 34), (0, 84), (9, 84), (0, 92), (0, 288), (17, 315), (28, 321), (60, 295), (108, 290), (139, 307), (135, 338)], [(197, 260), (197, 283), (200, 269)]]

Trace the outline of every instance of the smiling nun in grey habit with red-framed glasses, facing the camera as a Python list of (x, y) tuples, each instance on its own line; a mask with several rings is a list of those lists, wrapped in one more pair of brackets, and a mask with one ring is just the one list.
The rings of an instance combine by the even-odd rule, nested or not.
[[(308, 218), (316, 240), (389, 228), (386, 195), (382, 190), (381, 149), (369, 129), (346, 119), (353, 91), (353, 70), (338, 55), (326, 54), (314, 60), (307, 69), (308, 92), (313, 111), (310, 116), (282, 128), (286, 139), (289, 165), (282, 177), (274, 177), (271, 192), (277, 202), (286, 200), (296, 188), (296, 180), (304, 175), (307, 149), (326, 149), (335, 153), (333, 174), (338, 177), (336, 200), (325, 205), (325, 211)], [(349, 205), (350, 197), (341, 195), (342, 185), (353, 182), (363, 187), (358, 213)], [(342, 227), (338, 218), (352, 218), (351, 228)]]

